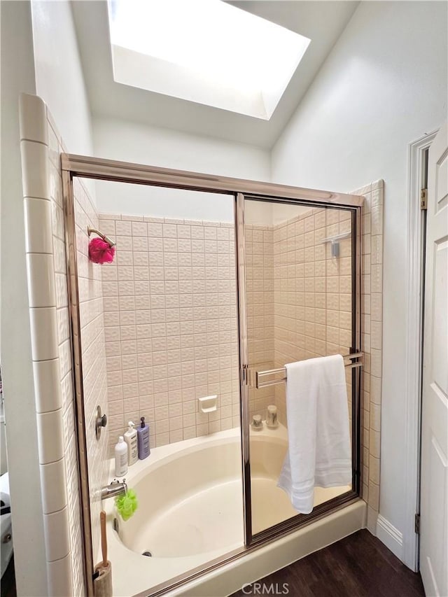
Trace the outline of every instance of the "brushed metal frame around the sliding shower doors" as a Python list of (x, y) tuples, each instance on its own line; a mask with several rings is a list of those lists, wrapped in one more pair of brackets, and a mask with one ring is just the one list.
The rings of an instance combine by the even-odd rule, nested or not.
[[(87, 465), (87, 442), (85, 436), (85, 417), (83, 400), (83, 372), (82, 354), (80, 345), (80, 309), (78, 294), (78, 263), (76, 258), (76, 223), (73, 199), (73, 177), (92, 178), (102, 181), (115, 181), (123, 183), (134, 183), (140, 185), (152, 185), (167, 188), (179, 188), (184, 190), (197, 190), (203, 192), (227, 194), (235, 198), (235, 251), (237, 268), (237, 304), (239, 320), (239, 371), (240, 371), (240, 404), (241, 404), (241, 454), (242, 454), (242, 475), (244, 491), (244, 540), (245, 546), (230, 554), (224, 554), (220, 559), (212, 561), (208, 566), (202, 566), (195, 570), (172, 579), (169, 584), (160, 585), (148, 589), (151, 595), (162, 595), (168, 589), (179, 587), (189, 580), (193, 580), (204, 573), (214, 570), (224, 563), (244, 556), (252, 549), (276, 540), (281, 535), (295, 530), (308, 521), (324, 517), (330, 510), (337, 510), (359, 496), (359, 463), (360, 463), (360, 370), (353, 370), (353, 392), (356, 392), (356, 400), (353, 400), (353, 426), (358, 430), (353, 433), (353, 463), (356, 464), (353, 475), (353, 491), (351, 495), (334, 498), (325, 503), (323, 508), (316, 507), (316, 512), (307, 521), (303, 521), (303, 515), (298, 515), (284, 523), (276, 525), (258, 533), (255, 537), (251, 528), (251, 476), (249, 457), (249, 411), (248, 411), (248, 349), (247, 349), (247, 316), (246, 316), (246, 261), (244, 242), (244, 198), (264, 199), (267, 201), (278, 201), (292, 204), (306, 204), (309, 206), (332, 206), (349, 209), (352, 213), (352, 254), (356, 254), (353, 260), (352, 271), (352, 293), (353, 293), (353, 347), (360, 349), (360, 238), (361, 238), (361, 206), (364, 197), (358, 195), (347, 195), (344, 193), (328, 192), (316, 189), (297, 188), (287, 185), (276, 185), (272, 183), (248, 181), (240, 178), (227, 176), (213, 176), (210, 174), (198, 174), (196, 172), (174, 170), (134, 164), (131, 162), (119, 162), (116, 160), (104, 160), (97, 157), (84, 155), (61, 155), (62, 186), (64, 196), (64, 224), (66, 238), (66, 261), (69, 292), (69, 311), (71, 323), (71, 345), (73, 360), (73, 384), (76, 397), (76, 427), (78, 444), (78, 479), (80, 484), (81, 519), (83, 526), (83, 542), (85, 557), (85, 582), (87, 594), (93, 595), (93, 554), (92, 554), (92, 524), (90, 520), (90, 491)], [(354, 251), (354, 253), (353, 253)], [(342, 498), (342, 499), (341, 499)], [(145, 592), (145, 596), (148, 595)]]

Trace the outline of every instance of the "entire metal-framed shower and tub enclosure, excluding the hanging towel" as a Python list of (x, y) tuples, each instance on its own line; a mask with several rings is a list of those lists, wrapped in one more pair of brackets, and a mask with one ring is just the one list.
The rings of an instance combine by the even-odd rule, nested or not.
[[(179, 479), (172, 486), (163, 482), (161, 469), (151, 470), (149, 491), (139, 469), (132, 478), (141, 518), (116, 523), (123, 527), (120, 545), (138, 552), (142, 566), (158, 560), (158, 575), (154, 568), (141, 589), (145, 594), (178, 586), (358, 500), (363, 197), (77, 155), (62, 156), (62, 171), (88, 591), (102, 507), (94, 498), (96, 477), (106, 470), (128, 418), (146, 416), (154, 461), (169, 454), (177, 472), (168, 475)], [(102, 211), (87, 199), (78, 201), (87, 196), (81, 179), (97, 181)], [(120, 213), (120, 195), (132, 203), (131, 213)], [(116, 241), (116, 263), (88, 264), (87, 225)], [(92, 288), (93, 302), (86, 300)], [(103, 321), (104, 329), (92, 321)], [(92, 365), (91, 347), (99, 353), (102, 341), (105, 370), (98, 356)], [(276, 486), (288, 446), (284, 365), (336, 353), (346, 365), (352, 482), (316, 488), (311, 514), (298, 514)], [(105, 393), (109, 441), (99, 448), (92, 429)], [(216, 398), (207, 412), (199, 399), (209, 396)], [(262, 423), (260, 433), (253, 417), (264, 421), (269, 406), (279, 425)], [(191, 460), (198, 452), (203, 460)], [(173, 454), (183, 461), (176, 464)], [(147, 460), (151, 464), (151, 456)], [(186, 466), (205, 471), (201, 479), (195, 470), (186, 484), (188, 514), (172, 503), (172, 494), (183, 491)], [(216, 474), (210, 476), (211, 470)], [(152, 493), (160, 498), (155, 505)], [(150, 502), (160, 515), (137, 540), (133, 529), (146, 524)], [(161, 510), (164, 504), (170, 510)], [(183, 521), (204, 513), (206, 505), (209, 534), (226, 539), (211, 541), (197, 527), (195, 549), (201, 553), (194, 559), (195, 553), (179, 547), (179, 536)], [(183, 532), (190, 545), (191, 524), (190, 535), (187, 528)], [(141, 556), (145, 542), (155, 546), (152, 564)], [(174, 542), (179, 552), (170, 552)], [(172, 559), (165, 576), (164, 558)]]

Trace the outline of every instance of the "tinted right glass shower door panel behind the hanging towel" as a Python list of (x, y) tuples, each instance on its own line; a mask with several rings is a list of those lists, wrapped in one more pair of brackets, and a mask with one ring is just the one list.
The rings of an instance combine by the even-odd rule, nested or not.
[[(245, 199), (244, 209), (251, 521), (256, 535), (300, 514), (277, 486), (288, 450), (282, 367), (351, 351), (355, 255), (350, 209), (258, 199)], [(351, 370), (346, 381), (351, 417)], [(351, 489), (315, 487), (314, 511)]]

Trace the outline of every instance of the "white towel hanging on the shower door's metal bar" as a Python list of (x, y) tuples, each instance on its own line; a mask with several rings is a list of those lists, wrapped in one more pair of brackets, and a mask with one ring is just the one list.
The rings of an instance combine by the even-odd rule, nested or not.
[(297, 512), (313, 510), (314, 486), (351, 484), (351, 443), (344, 359), (286, 365), (288, 452), (277, 485)]

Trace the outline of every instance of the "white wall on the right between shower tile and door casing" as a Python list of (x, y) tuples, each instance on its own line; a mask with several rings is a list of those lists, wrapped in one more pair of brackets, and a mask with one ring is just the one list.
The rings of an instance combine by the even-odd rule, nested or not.
[(380, 513), (405, 535), (407, 145), (447, 118), (447, 4), (361, 2), (272, 150), (272, 180), (349, 192), (384, 178)]

